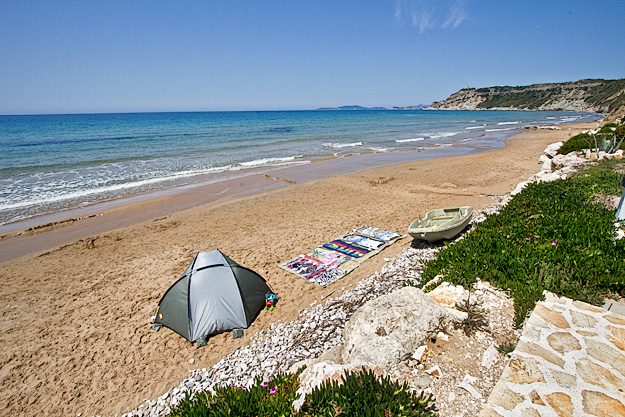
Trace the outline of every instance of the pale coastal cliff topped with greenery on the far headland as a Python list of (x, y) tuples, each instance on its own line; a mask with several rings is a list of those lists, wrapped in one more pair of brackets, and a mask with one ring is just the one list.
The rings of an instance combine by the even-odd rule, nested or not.
[(525, 87), (463, 88), (432, 110), (563, 110), (612, 113), (625, 108), (625, 78), (588, 79)]

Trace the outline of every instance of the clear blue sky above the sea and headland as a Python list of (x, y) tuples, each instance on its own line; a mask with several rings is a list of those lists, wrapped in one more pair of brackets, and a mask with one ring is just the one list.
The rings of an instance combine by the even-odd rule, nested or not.
[(0, 114), (409, 106), (625, 77), (624, 0), (2, 0)]

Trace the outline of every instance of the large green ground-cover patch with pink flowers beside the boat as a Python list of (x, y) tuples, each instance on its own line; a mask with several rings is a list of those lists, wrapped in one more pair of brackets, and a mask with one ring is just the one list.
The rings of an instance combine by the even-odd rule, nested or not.
[(625, 295), (625, 241), (613, 241), (614, 212), (597, 195), (619, 195), (625, 161), (604, 160), (577, 176), (530, 184), (497, 215), (447, 245), (424, 281), (443, 274), (470, 287), (477, 278), (509, 289), (520, 326), (543, 290), (598, 304)]

